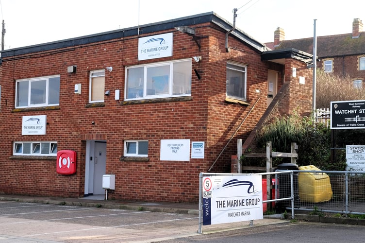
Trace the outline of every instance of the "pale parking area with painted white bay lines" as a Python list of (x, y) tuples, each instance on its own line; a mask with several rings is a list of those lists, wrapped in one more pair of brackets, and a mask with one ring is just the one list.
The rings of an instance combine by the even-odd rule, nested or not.
[[(284, 220), (259, 220), (255, 225)], [(0, 201), (0, 243), (149, 243), (203, 236), (249, 222), (203, 226), (196, 214)]]

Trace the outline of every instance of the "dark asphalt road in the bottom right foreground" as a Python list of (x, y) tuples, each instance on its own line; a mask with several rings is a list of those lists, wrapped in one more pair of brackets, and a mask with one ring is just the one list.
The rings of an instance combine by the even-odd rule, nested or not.
[(192, 236), (159, 243), (364, 243), (364, 226), (285, 223)]

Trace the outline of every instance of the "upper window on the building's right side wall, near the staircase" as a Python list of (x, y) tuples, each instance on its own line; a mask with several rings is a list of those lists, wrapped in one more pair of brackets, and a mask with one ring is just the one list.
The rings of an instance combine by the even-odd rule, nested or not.
[(246, 69), (244, 65), (227, 63), (227, 97), (246, 100)]

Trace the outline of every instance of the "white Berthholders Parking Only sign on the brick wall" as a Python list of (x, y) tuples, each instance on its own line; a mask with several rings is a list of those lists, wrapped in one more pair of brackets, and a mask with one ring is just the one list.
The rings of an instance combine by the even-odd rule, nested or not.
[(190, 139), (161, 139), (160, 160), (189, 161)]

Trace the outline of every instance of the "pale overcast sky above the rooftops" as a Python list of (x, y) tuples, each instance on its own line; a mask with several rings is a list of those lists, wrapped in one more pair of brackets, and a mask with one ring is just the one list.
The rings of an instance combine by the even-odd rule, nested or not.
[[(261, 43), (352, 32), (364, 0), (0, 0), (4, 49), (215, 12)], [(316, 21), (314, 21), (316, 19)], [(364, 28), (365, 31), (365, 28)]]

